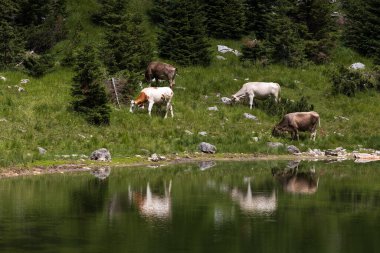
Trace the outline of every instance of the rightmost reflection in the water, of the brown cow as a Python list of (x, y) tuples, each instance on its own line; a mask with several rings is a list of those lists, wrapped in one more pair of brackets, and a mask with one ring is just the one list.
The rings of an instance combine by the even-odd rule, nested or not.
[(281, 183), (284, 191), (298, 194), (313, 194), (317, 192), (319, 177), (315, 170), (308, 172), (298, 171), (298, 162), (291, 161), (288, 170), (272, 170), (273, 176)]

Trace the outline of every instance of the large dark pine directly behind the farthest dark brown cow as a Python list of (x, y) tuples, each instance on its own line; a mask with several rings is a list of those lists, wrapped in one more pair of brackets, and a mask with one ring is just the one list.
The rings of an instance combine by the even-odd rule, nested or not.
[(168, 2), (158, 35), (159, 54), (181, 65), (209, 65), (211, 52), (204, 13), (197, 0)]

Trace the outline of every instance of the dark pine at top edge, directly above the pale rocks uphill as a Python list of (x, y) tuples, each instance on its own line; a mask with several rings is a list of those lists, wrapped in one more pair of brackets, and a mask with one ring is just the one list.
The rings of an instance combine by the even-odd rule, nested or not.
[(238, 39), (243, 35), (245, 8), (243, 0), (206, 0), (208, 34), (215, 38)]

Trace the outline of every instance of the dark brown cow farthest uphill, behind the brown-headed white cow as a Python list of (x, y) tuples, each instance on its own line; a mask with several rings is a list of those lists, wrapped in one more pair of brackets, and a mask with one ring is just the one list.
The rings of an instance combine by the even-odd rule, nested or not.
[(157, 86), (158, 80), (168, 80), (170, 88), (173, 88), (176, 73), (177, 69), (174, 66), (163, 62), (154, 61), (149, 63), (145, 71), (145, 80), (150, 83), (154, 78), (156, 79)]

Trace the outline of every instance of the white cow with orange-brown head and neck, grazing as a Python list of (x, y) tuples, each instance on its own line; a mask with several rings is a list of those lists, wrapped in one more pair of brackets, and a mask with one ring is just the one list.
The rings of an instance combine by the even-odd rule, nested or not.
[(172, 117), (173, 114), (173, 106), (172, 106), (172, 98), (173, 98), (173, 90), (170, 87), (148, 87), (143, 89), (136, 100), (131, 100), (131, 108), (130, 112), (133, 113), (134, 107), (142, 106), (146, 102), (149, 103), (148, 112), (149, 116), (151, 116), (152, 107), (155, 103), (161, 104), (166, 102), (166, 113), (165, 118), (168, 116), (168, 111), (170, 110)]

